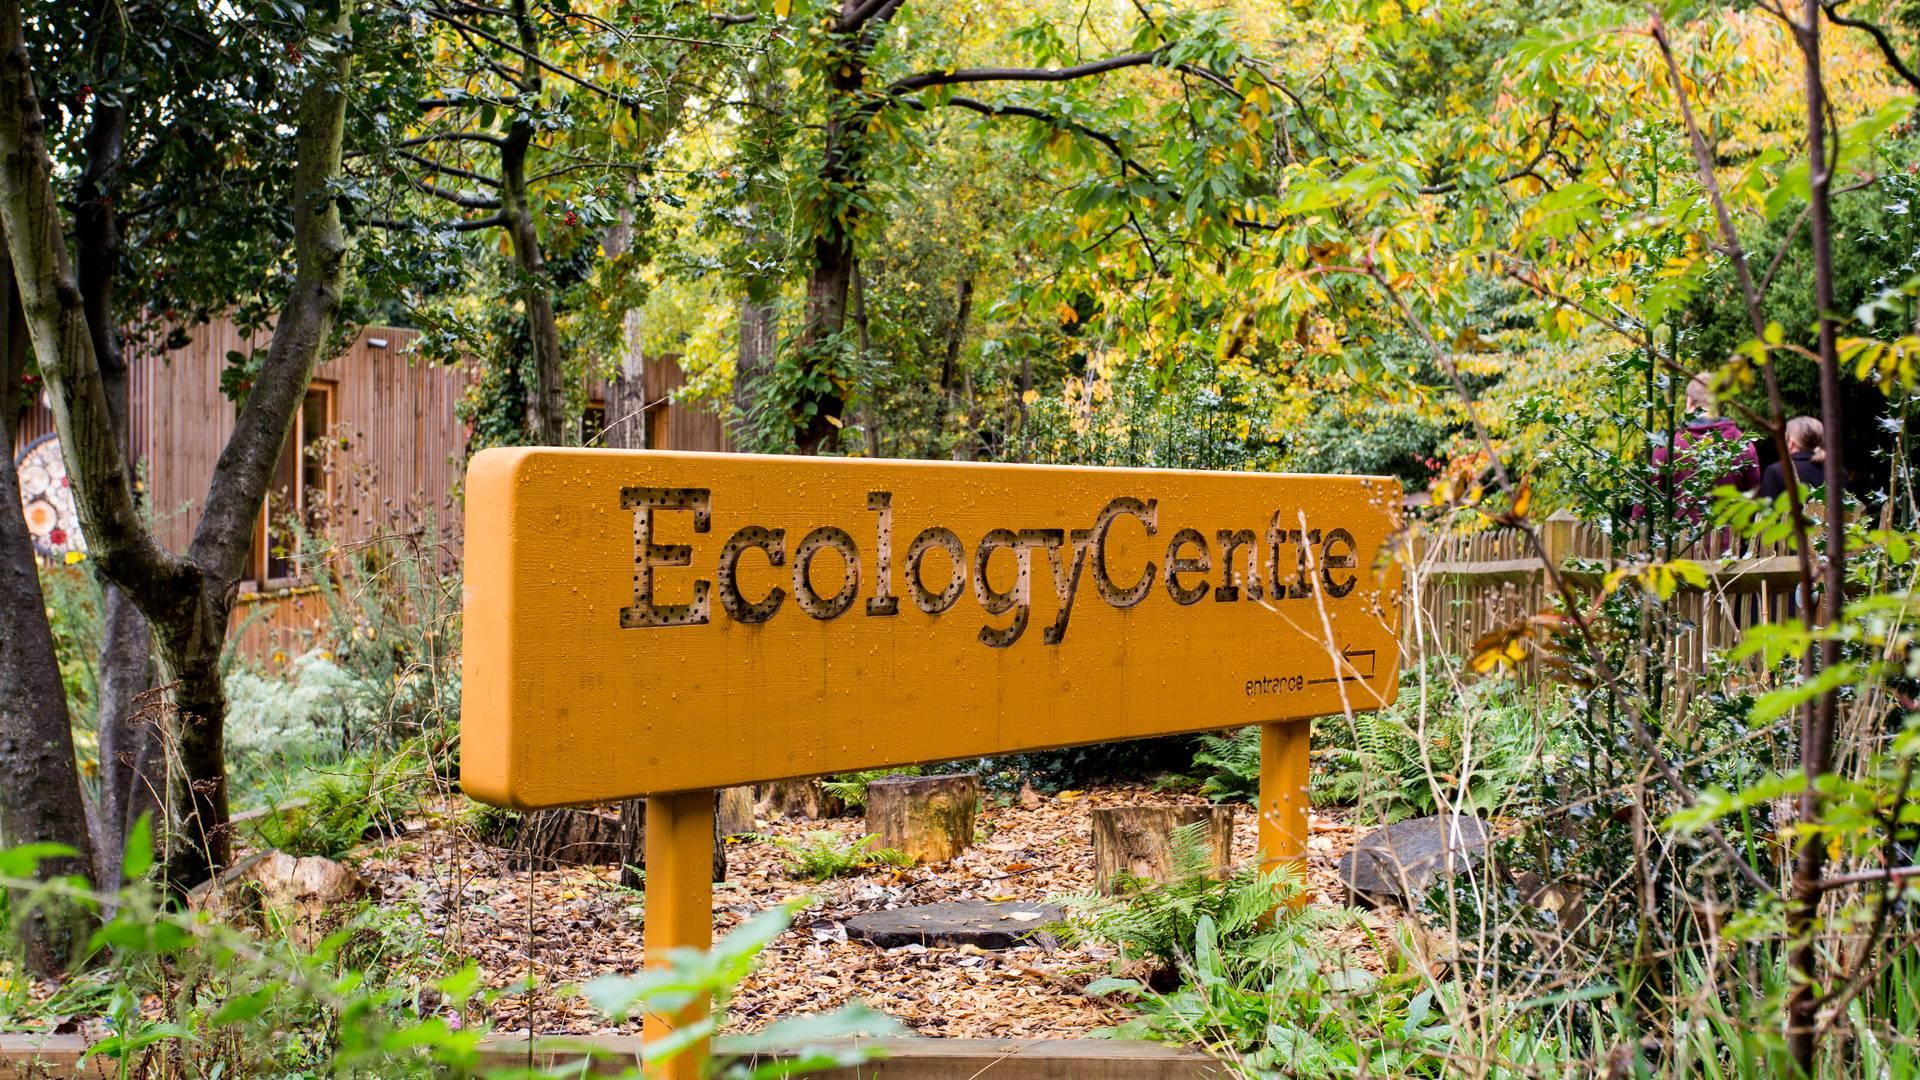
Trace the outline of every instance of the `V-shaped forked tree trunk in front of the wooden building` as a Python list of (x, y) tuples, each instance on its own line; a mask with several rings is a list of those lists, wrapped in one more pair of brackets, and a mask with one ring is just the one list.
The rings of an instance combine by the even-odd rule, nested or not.
[[(315, 19), (326, 21), (313, 29), (346, 38), (348, 8), (340, 2), (317, 13)], [(336, 50), (301, 90), (292, 125), (294, 284), (261, 375), (215, 463), (194, 540), (180, 557), (146, 530), (132, 494), (81, 290), (67, 265), (19, 2), (0, 0), (0, 219), (88, 550), (100, 573), (148, 617), (161, 675), (175, 682), (179, 723), (165, 749), (177, 757), (167, 774), (179, 784), (167, 792), (177, 821), (167, 832), (165, 865), (169, 884), (182, 892), (225, 867), (232, 853), (219, 657), (261, 498), (340, 309), (346, 234), (332, 183), (340, 177), (349, 56)]]

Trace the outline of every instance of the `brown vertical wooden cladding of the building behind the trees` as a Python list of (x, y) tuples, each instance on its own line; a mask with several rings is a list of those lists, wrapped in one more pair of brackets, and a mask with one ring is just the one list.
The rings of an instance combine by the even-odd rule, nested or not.
[[(223, 319), (194, 327), (190, 338), (171, 352), (129, 350), (132, 461), (154, 530), (175, 552), (194, 534), (213, 465), (238, 415), (238, 405), (221, 392), (227, 354), (265, 348), (267, 331), (250, 340)], [(474, 371), (417, 363), (411, 356), (417, 338), (409, 329), (365, 327), (315, 373), (261, 507), (234, 605), (232, 625), (250, 657), (290, 657), (324, 621), (305, 567), (292, 557), (284, 527), (290, 515), (324, 528), (332, 542), (424, 528), (459, 552), (470, 429), (457, 405)], [(647, 357), (643, 386), (647, 407), (626, 423), (645, 425), (647, 446), (728, 448), (720, 415), (670, 400), (685, 386), (674, 357)], [(584, 438), (622, 419), (605, 415), (605, 394), (591, 396)], [(17, 425), (13, 454), (52, 430), (52, 411), (35, 402)]]

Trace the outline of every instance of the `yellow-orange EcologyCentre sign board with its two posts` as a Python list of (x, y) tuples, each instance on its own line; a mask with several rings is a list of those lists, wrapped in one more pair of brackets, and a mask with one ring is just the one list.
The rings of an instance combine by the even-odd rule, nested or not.
[(1380, 477), (488, 450), (461, 784), (647, 796), (651, 959), (710, 944), (733, 784), (1265, 724), (1298, 859), (1308, 721), (1398, 688), (1398, 513)]

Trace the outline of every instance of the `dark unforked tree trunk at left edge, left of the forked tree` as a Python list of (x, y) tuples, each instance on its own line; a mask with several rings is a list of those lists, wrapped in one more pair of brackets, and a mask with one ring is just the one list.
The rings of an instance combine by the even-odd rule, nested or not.
[[(13, 265), (0, 258), (0, 388), (12, 394), (27, 371), (27, 327), (13, 288)], [(73, 855), (40, 863), (40, 878), (90, 876), (92, 840), (81, 776), (73, 765), (73, 726), (46, 621), (33, 538), (13, 471), (13, 407), (0, 407), (0, 847), (65, 844)], [(19, 894), (15, 894), (17, 897)], [(19, 899), (15, 899), (19, 903)], [(27, 963), (54, 974), (86, 944), (88, 919), (50, 903), (21, 920)]]

